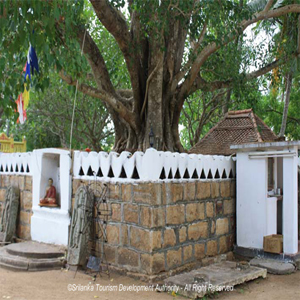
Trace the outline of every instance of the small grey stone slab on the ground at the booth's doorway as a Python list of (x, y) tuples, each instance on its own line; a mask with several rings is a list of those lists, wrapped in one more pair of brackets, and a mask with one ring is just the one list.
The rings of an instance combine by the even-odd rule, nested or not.
[(267, 258), (253, 258), (250, 265), (264, 268), (268, 273), (276, 275), (291, 274), (296, 270), (293, 263)]

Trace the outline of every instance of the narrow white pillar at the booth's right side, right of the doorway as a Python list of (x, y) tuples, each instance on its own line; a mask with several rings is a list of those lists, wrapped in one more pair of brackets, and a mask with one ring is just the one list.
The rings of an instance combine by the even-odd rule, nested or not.
[[(297, 147), (294, 147), (296, 153)], [(283, 252), (298, 252), (298, 157), (283, 158)]]

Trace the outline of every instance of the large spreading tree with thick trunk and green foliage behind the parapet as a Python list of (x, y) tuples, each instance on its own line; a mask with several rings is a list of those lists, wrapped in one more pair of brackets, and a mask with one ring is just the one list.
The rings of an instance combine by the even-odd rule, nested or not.
[[(148, 148), (151, 128), (155, 148), (184, 151), (178, 124), (189, 95), (256, 78), (298, 56), (283, 53), (247, 73), (237, 53), (237, 61), (232, 61), (235, 71), (229, 68), (218, 74), (208, 68), (226, 60), (226, 52), (237, 51), (235, 41), (250, 25), (300, 13), (295, 1), (254, 0), (243, 5), (235, 0), (89, 2), (0, 1), (1, 97), (5, 103), (9, 94), (15, 96), (21, 89), (25, 58), (21, 50), (30, 41), (42, 69), (32, 85), (45, 88), (47, 72), (55, 67), (69, 85), (78, 83), (80, 92), (102, 101), (114, 123), (117, 151)], [(107, 31), (124, 58), (129, 81), (125, 89), (117, 86), (107, 67), (107, 50), (101, 47)], [(79, 55), (80, 49), (86, 59)]]

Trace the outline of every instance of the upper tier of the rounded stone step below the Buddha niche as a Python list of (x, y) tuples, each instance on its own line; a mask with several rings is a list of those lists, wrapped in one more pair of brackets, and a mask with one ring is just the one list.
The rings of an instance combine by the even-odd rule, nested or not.
[(32, 241), (10, 244), (5, 248), (11, 255), (27, 258), (56, 258), (65, 255), (64, 247)]

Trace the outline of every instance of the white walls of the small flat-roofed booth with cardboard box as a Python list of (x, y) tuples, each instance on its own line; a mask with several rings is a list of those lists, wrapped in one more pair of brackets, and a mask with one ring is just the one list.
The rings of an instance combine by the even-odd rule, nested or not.
[[(284, 150), (297, 153), (296, 146)], [(277, 198), (267, 197), (268, 158), (237, 154), (237, 245), (263, 249), (263, 238), (277, 233)], [(278, 186), (283, 188), (283, 252), (298, 252), (298, 157), (277, 160)], [(281, 222), (279, 218), (279, 222)]]

